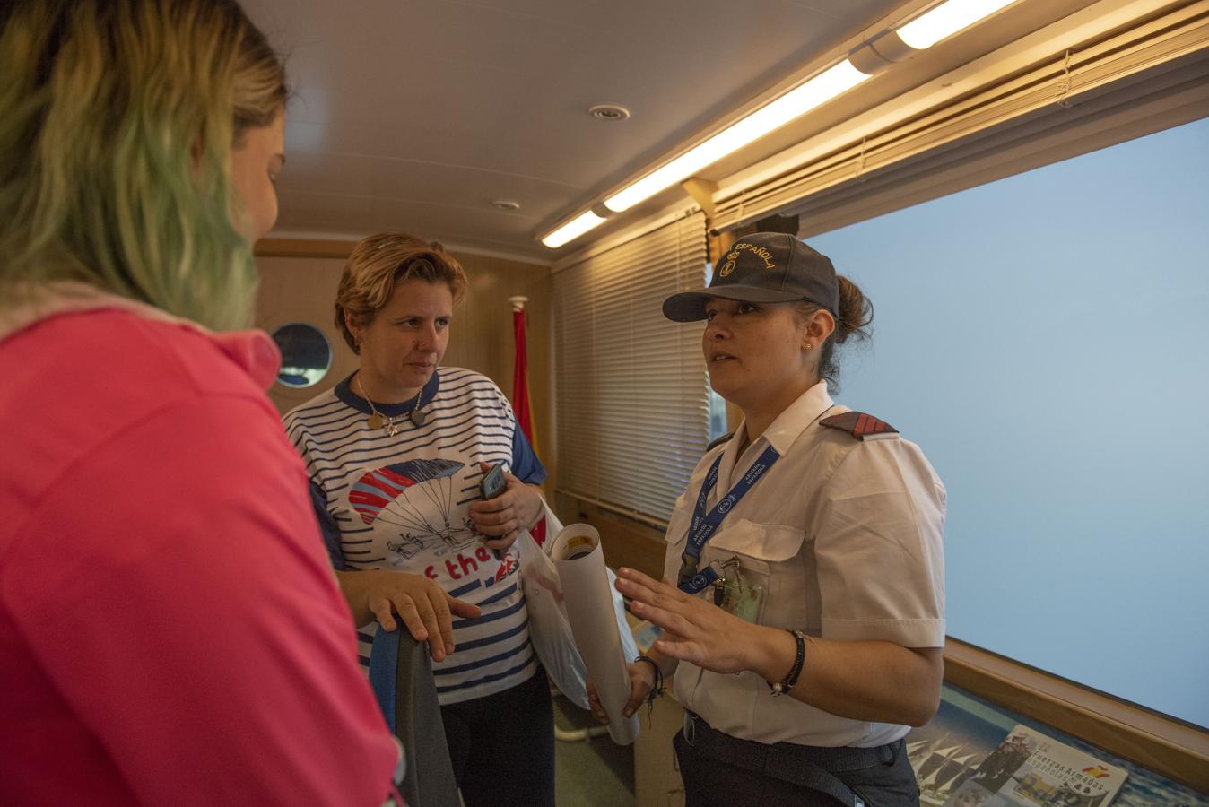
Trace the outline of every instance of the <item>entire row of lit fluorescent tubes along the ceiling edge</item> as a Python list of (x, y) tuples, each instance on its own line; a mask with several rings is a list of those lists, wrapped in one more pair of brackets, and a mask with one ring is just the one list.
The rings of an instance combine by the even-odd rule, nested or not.
[(545, 234), (542, 243), (550, 249), (562, 246), (601, 225), (612, 213), (621, 213), (676, 185), (729, 153), (826, 104), (866, 79), (885, 70), (908, 56), (931, 47), (943, 39), (1017, 0), (945, 0), (927, 8), (895, 29), (866, 40), (849, 56), (822, 70), (785, 94), (730, 124), (708, 140), (664, 163), (630, 182), (617, 193), (580, 213), (571, 221)]

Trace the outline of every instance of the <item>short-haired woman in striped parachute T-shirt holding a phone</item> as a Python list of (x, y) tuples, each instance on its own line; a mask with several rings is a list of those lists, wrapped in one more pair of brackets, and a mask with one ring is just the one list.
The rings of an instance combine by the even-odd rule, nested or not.
[[(360, 242), (335, 306), (360, 366), (287, 414), (285, 426), (307, 463), (363, 664), (398, 612), (432, 648), (467, 807), (553, 806), (553, 712), (511, 548), (540, 517), (545, 470), (494, 383), (439, 366), (465, 289), (439, 244)], [(485, 501), (493, 465), (507, 487)]]

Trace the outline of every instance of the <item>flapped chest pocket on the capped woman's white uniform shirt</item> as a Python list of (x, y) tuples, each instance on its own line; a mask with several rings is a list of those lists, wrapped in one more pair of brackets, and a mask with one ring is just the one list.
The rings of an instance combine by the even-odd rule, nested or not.
[(797, 620), (806, 597), (802, 565), (805, 532), (783, 524), (758, 524), (746, 518), (725, 524), (702, 552), (705, 563), (734, 569), (746, 585), (765, 588), (763, 619), (776, 625)]

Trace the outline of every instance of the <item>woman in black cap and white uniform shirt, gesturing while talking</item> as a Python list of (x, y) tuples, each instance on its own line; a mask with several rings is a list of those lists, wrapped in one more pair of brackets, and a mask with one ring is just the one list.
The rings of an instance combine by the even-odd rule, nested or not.
[(676, 505), (665, 580), (619, 574), (664, 629), (627, 713), (675, 673), (689, 807), (918, 803), (903, 736), (939, 702), (945, 494), (919, 447), (828, 395), (872, 306), (826, 256), (757, 233), (664, 313), (706, 321), (710, 381), (744, 419)]

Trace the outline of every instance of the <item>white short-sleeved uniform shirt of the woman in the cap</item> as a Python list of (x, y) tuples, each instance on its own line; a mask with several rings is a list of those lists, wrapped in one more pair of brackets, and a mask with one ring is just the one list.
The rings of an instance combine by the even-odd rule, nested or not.
[[(718, 453), (707, 509), (771, 443), (781, 458), (727, 513), (705, 545), (701, 568), (737, 558), (753, 579), (764, 575), (762, 625), (822, 639), (943, 646), (944, 486), (919, 447), (897, 434), (862, 441), (818, 425), (845, 411), (820, 382), (741, 457), (739, 440), (707, 452), (672, 512), (664, 573), (677, 577), (693, 507)], [(710, 590), (699, 596), (710, 597)], [(684, 661), (676, 697), (715, 728), (763, 743), (874, 747), (908, 731), (773, 697), (752, 672), (718, 674)]]

